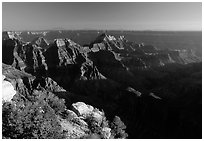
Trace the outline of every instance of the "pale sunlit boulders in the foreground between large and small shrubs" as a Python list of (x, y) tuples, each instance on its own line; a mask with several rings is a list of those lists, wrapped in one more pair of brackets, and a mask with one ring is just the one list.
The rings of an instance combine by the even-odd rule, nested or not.
[[(92, 135), (98, 138), (111, 138), (112, 129), (107, 125), (102, 125), (105, 118), (103, 112), (84, 102), (73, 103), (72, 110), (66, 111), (69, 115), (67, 119), (60, 119), (62, 130), (66, 132), (66, 138), (91, 138)], [(97, 133), (92, 133), (92, 128), (96, 127), (98, 127)]]

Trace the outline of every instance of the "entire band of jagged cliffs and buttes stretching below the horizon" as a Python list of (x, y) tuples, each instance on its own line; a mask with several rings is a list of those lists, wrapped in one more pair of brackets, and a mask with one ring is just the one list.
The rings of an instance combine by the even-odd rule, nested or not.
[[(3, 63), (31, 74), (49, 76), (58, 74), (55, 71), (60, 68), (64, 70), (64, 67), (76, 72), (74, 77), (84, 75), (85, 72), (81, 70), (87, 70), (86, 75), (96, 74), (94, 77), (100, 77), (100, 72), (103, 72), (103, 75), (109, 73), (100, 69), (117, 67), (119, 64), (125, 69), (146, 69), (171, 63), (200, 62), (200, 58), (193, 51), (159, 50), (151, 45), (129, 42), (124, 36), (116, 39), (106, 34), (98, 36), (88, 48), (70, 39), (56, 39), (48, 45), (42, 37), (34, 39), (31, 43), (23, 43), (16, 38), (4, 38), (2, 51)], [(85, 79), (89, 78), (93, 79), (93, 76), (86, 76)]]

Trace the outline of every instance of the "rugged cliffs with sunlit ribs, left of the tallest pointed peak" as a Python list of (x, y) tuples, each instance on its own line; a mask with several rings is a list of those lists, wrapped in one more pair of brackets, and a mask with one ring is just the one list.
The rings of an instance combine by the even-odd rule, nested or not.
[(69, 39), (56, 39), (48, 45), (43, 38), (31, 43), (8, 38), (3, 40), (2, 51), (3, 63), (37, 77), (49, 76), (65, 88), (75, 79), (103, 77), (83, 47)]

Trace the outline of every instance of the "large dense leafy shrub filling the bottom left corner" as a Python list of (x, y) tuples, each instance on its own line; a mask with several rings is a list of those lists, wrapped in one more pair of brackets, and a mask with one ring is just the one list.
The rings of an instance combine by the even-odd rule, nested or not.
[[(35, 101), (22, 100), (3, 103), (3, 138), (11, 139), (59, 139), (64, 138), (56, 113), (63, 104), (53, 96), (35, 92)], [(59, 105), (59, 106), (58, 106)]]

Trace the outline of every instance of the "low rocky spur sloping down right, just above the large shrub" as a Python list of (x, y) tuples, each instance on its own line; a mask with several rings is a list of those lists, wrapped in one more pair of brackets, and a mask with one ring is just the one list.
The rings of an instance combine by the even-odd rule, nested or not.
[(2, 64), (2, 67), (2, 74), (5, 75), (6, 79), (11, 82), (14, 89), (24, 96), (31, 93), (34, 89), (41, 88), (50, 92), (65, 91), (49, 77), (35, 77), (6, 64)]

